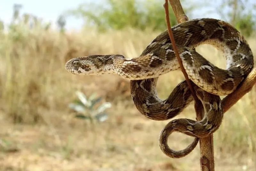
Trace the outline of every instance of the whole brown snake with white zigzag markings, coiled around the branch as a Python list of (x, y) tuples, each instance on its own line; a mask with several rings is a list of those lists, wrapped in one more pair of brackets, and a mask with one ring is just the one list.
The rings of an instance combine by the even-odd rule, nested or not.
[[(220, 127), (223, 107), (219, 96), (232, 93), (251, 72), (254, 61), (244, 37), (236, 28), (222, 20), (193, 19), (172, 27), (172, 32), (183, 66), (205, 112), (200, 121), (175, 119), (161, 131), (161, 150), (169, 157), (180, 158), (196, 147), (198, 138), (209, 136)], [(210, 44), (222, 51), (227, 60), (226, 69), (214, 66), (193, 50), (201, 44)], [(193, 101), (185, 81), (175, 87), (167, 99), (162, 100), (157, 95), (158, 77), (180, 70), (167, 30), (158, 35), (139, 57), (91, 55), (73, 58), (66, 63), (65, 68), (72, 74), (118, 74), (131, 80), (135, 106), (140, 113), (152, 120), (171, 119)], [(183, 150), (172, 150), (167, 139), (174, 131), (194, 136), (195, 140)]]

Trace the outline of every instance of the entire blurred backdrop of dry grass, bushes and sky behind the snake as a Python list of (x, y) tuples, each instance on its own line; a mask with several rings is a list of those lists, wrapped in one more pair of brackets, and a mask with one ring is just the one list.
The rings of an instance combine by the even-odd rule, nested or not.
[[(167, 121), (149, 120), (133, 105), (129, 81), (65, 70), (74, 57), (140, 55), (166, 29), (164, 0), (18, 1), (0, 3), (0, 170), (199, 170), (199, 145), (171, 159), (159, 147)], [(235, 26), (256, 56), (254, 0), (181, 0), (189, 19), (216, 18)], [(170, 7), (171, 25), (176, 24)], [(225, 68), (209, 45), (196, 50)], [(161, 76), (166, 98), (184, 77)], [(256, 87), (224, 115), (214, 133), (216, 170), (255, 170)], [(193, 103), (176, 118), (195, 119)], [(192, 137), (174, 133), (181, 150)]]

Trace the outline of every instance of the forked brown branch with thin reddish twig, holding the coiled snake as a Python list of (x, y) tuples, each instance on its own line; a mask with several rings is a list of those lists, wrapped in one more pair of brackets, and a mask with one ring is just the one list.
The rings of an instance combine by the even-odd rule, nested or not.
[[(178, 21), (178, 23), (181, 22), (185, 22), (188, 20), (188, 17), (186, 16), (181, 4), (180, 4), (180, 0), (169, 0), (170, 4), (172, 5), (172, 9), (173, 12), (176, 16), (176, 19)], [(170, 26), (170, 22), (169, 22), (169, 11), (168, 11), (168, 2), (167, 0), (165, 0), (165, 4), (164, 4), (164, 8), (165, 8), (165, 17), (166, 17), (166, 24), (167, 24), (167, 29), (168, 29), (168, 33), (172, 42), (172, 46), (173, 46), (173, 50), (175, 51), (176, 57), (179, 61), (180, 67), (181, 67), (181, 71), (184, 74), (184, 77), (186, 79), (186, 81), (189, 83), (189, 79), (188, 79), (188, 75), (186, 72), (184, 72), (185, 70), (181, 60), (180, 60), (180, 56), (175, 44), (175, 40), (173, 38), (172, 35), (172, 30), (171, 30), (171, 26)], [(246, 93), (248, 93), (252, 87), (256, 84), (256, 68), (254, 68), (252, 70), (252, 72), (247, 76), (247, 78), (244, 80), (244, 82), (237, 87), (237, 89), (229, 94), (228, 96), (226, 96), (225, 98), (222, 99), (222, 104), (224, 107), (224, 113), (228, 111), (228, 109), (230, 107), (232, 107), (234, 104), (236, 104), (236, 102), (242, 98)], [(192, 86), (191, 86), (192, 87)], [(190, 88), (190, 86), (189, 86)], [(192, 95), (193, 95), (193, 88), (191, 89)], [(197, 97), (195, 97), (193, 95), (194, 99), (195, 99), (195, 110), (196, 110), (196, 119), (197, 120), (202, 120), (203, 119), (203, 113), (204, 113), (204, 108), (202, 106), (201, 101), (198, 100)], [(210, 135), (208, 137), (204, 137), (204, 138), (200, 138), (199, 139), (200, 142), (200, 154), (201, 154), (201, 158), (200, 158), (200, 164), (201, 164), (201, 170), (202, 171), (214, 171), (214, 151), (213, 151), (213, 135)]]

